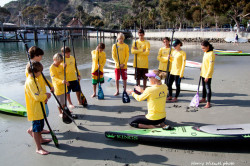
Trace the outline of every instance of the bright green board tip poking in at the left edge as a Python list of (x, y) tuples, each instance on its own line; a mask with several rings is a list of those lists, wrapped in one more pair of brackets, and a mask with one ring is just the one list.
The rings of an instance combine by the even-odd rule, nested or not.
[(0, 111), (20, 116), (27, 116), (26, 108), (23, 105), (4, 96), (0, 96)]

